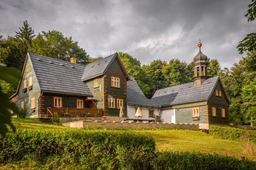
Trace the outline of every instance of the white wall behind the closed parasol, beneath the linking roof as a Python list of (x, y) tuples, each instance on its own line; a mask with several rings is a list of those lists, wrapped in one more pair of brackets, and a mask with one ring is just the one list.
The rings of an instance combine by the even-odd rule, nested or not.
[[(135, 117), (135, 106), (129, 106), (127, 105), (127, 116), (131, 119), (147, 119), (147, 120), (155, 120), (155, 117), (148, 117), (148, 108), (146, 107), (140, 107), (142, 112), (142, 117)], [(159, 110), (154, 109), (154, 113), (156, 116), (159, 116)]]

